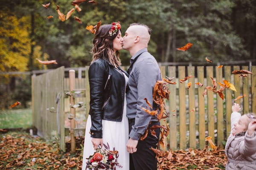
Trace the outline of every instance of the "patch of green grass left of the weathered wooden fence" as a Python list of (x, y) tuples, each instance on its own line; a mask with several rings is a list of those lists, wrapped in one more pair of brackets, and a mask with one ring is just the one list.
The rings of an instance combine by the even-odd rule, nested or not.
[(0, 111), (0, 129), (16, 129), (32, 127), (32, 110), (6, 109)]

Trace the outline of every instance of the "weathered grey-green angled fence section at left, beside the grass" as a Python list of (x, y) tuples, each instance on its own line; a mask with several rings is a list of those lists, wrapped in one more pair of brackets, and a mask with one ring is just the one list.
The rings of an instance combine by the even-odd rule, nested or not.
[(64, 67), (32, 76), (32, 113), (38, 135), (59, 137), (61, 150), (65, 150)]

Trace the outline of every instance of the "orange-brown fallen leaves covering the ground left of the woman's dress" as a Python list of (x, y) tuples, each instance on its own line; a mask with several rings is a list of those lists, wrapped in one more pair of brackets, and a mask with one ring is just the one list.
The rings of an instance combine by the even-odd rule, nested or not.
[(2, 134), (0, 148), (0, 169), (81, 170), (82, 167), (81, 150), (64, 153), (58, 142), (44, 142), (28, 133)]

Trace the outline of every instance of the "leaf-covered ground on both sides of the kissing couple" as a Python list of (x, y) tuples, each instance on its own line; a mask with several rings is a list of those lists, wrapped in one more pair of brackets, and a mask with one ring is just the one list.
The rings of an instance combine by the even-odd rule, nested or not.
[[(80, 144), (83, 143), (82, 141)], [(80, 170), (82, 148), (77, 144), (75, 153), (64, 153), (56, 141), (45, 142), (28, 133), (9, 132), (0, 135), (1, 170)], [(224, 170), (227, 158), (224, 150), (188, 151), (158, 150), (159, 170)]]

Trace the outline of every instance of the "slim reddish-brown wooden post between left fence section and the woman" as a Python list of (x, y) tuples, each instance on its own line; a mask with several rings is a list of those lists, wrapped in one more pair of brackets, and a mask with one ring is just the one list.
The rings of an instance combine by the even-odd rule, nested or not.
[[(70, 91), (73, 91), (75, 88), (75, 71), (69, 71), (69, 80), (70, 80)], [(75, 105), (75, 99), (73, 96), (70, 96), (70, 104)], [(71, 152), (75, 151), (76, 147), (76, 139), (74, 134), (74, 128), (76, 127), (75, 117), (76, 117), (76, 110), (75, 108), (70, 107), (70, 113), (73, 119), (70, 120), (70, 138), (71, 138)]]

